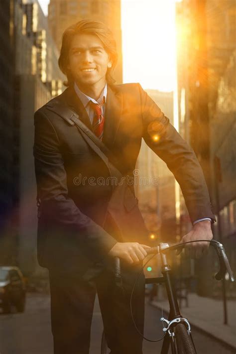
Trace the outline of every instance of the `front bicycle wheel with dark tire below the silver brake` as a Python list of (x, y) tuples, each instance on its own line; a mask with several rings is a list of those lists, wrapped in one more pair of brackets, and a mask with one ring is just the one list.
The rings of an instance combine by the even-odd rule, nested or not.
[(192, 337), (183, 323), (175, 327), (175, 341), (178, 354), (196, 354)]

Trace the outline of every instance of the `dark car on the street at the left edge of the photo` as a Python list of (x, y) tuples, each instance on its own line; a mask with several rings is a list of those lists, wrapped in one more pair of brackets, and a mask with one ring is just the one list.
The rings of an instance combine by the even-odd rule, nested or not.
[(3, 313), (11, 312), (14, 305), (18, 312), (25, 308), (25, 283), (18, 267), (0, 266), (0, 307)]

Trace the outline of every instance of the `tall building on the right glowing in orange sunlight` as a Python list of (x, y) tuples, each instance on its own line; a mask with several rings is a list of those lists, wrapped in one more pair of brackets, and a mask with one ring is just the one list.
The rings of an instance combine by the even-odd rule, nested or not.
[[(192, 145), (205, 174), (218, 219), (214, 238), (229, 249), (236, 269), (235, 1), (183, 0), (176, 6), (180, 131)], [(184, 215), (182, 219), (183, 236), (189, 221)], [(186, 268), (193, 270), (190, 265)], [(212, 277), (216, 269), (211, 253), (195, 262), (192, 275), (199, 278), (200, 295), (219, 292)]]

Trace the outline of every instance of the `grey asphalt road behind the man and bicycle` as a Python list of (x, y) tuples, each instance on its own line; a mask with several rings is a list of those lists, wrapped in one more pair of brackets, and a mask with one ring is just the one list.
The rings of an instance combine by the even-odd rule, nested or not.
[[(162, 336), (159, 318), (161, 312), (146, 303), (145, 336), (157, 339)], [(96, 298), (90, 354), (100, 353), (102, 317)], [(198, 354), (231, 354), (224, 346), (192, 329)], [(143, 354), (160, 353), (161, 342), (143, 341)], [(24, 314), (0, 315), (0, 354), (52, 354), (53, 343), (50, 331), (50, 296), (29, 294)], [(78, 352), (79, 354), (79, 352)]]

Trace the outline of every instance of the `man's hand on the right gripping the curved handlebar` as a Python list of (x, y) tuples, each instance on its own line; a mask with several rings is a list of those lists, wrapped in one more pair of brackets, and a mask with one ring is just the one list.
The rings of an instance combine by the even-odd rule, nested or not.
[[(209, 220), (200, 221), (193, 226), (193, 229), (185, 236), (182, 237), (181, 242), (194, 241), (198, 239), (213, 238), (211, 230), (211, 222)], [(184, 245), (184, 252), (187, 257), (192, 259), (199, 259), (203, 254), (208, 252), (210, 242), (193, 242)], [(177, 251), (180, 254), (182, 249)]]

